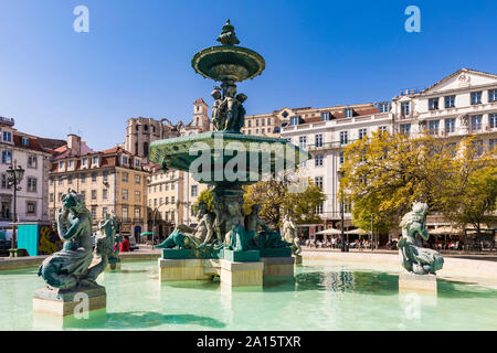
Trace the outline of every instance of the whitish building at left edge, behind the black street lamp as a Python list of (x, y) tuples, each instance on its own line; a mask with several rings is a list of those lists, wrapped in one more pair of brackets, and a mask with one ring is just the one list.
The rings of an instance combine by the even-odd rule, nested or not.
[[(42, 146), (46, 139), (18, 131), (14, 120), (0, 117), (0, 228), (8, 228), (13, 220), (13, 186), (8, 183), (10, 165), (24, 169), (17, 193), (17, 221), (47, 221), (47, 175), (51, 153)], [(45, 140), (43, 143), (41, 140)], [(55, 141), (55, 140), (53, 140)]]

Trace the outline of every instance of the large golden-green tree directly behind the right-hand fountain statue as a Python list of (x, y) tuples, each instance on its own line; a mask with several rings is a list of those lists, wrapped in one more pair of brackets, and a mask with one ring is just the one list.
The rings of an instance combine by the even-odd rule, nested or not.
[(432, 136), (410, 139), (374, 132), (348, 146), (340, 192), (352, 203), (353, 224), (382, 233), (396, 228), (414, 201), (443, 210), (440, 192), (453, 178), (454, 146)]

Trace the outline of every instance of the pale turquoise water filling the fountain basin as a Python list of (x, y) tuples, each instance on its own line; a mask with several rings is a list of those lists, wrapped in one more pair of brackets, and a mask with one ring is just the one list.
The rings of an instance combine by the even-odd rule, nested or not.
[[(399, 295), (398, 274), (366, 265), (302, 266), (294, 281), (230, 290), (219, 281), (160, 284), (156, 261), (105, 272), (107, 312), (66, 330), (497, 330), (497, 290), (438, 279), (438, 295)], [(35, 269), (0, 272), (0, 330), (60, 330), (32, 313)]]

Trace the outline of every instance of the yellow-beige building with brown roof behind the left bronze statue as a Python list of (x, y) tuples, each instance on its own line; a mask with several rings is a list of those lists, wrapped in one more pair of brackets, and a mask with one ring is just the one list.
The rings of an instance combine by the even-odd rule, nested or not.
[(145, 231), (148, 172), (139, 157), (120, 147), (92, 151), (75, 135), (55, 152), (49, 179), (51, 220), (62, 206), (61, 196), (73, 189), (83, 195), (94, 229), (108, 213), (118, 217), (121, 235), (138, 236)]

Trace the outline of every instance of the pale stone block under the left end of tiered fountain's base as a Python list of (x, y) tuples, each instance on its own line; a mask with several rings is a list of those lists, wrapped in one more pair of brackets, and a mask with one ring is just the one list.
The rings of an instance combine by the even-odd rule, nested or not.
[[(215, 274), (213, 260), (159, 258), (160, 281), (208, 280)], [(205, 266), (204, 266), (205, 265)]]

